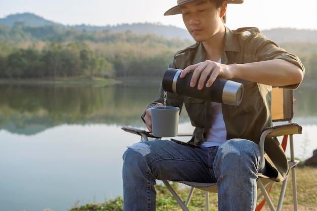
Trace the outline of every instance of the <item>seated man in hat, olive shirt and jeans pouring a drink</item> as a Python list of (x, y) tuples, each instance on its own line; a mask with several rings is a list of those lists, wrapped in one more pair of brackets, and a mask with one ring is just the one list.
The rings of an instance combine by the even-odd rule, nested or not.
[[(217, 77), (243, 83), (239, 106), (224, 105), (168, 94), (167, 106), (184, 104), (195, 127), (192, 141), (200, 148), (168, 140), (132, 145), (124, 154), (124, 210), (155, 210), (155, 180), (217, 183), (219, 210), (254, 210), (261, 130), (271, 126), (271, 86), (295, 89), (303, 79), (300, 60), (259, 33), (257, 28), (234, 31), (225, 24), (228, 3), (243, 0), (178, 0), (165, 15), (182, 14), (197, 42), (177, 52), (170, 68), (193, 72), (190, 86), (210, 87)], [(163, 106), (163, 89), (142, 118), (152, 131), (152, 106)], [(276, 139), (265, 146), (260, 173), (276, 181), (288, 171)], [(236, 182), (239, 181), (239, 182)]]

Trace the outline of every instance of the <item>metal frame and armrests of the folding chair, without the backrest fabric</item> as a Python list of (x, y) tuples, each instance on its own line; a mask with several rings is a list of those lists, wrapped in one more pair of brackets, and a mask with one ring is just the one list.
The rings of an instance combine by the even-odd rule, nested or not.
[[(293, 90), (287, 90), (288, 95), (293, 99)], [(285, 96), (285, 94), (283, 94)], [(294, 102), (294, 100), (293, 100)], [(290, 116), (284, 118), (284, 119), (277, 119), (274, 121), (283, 121), (283, 120), (288, 120), (288, 123), (282, 124), (282, 125), (277, 125), (277, 126), (271, 126), (268, 128), (263, 129), (262, 135), (260, 137), (260, 152), (261, 152), (261, 159), (260, 163), (262, 164), (264, 160), (264, 143), (265, 143), (265, 138), (267, 136), (269, 137), (279, 137), (279, 136), (284, 136), (282, 146), (284, 148), (284, 151), (286, 150), (286, 144), (288, 141), (289, 137), (289, 144), (290, 144), (290, 159), (288, 160), (289, 162), (289, 172), (292, 172), (292, 187), (293, 187), (293, 205), (294, 205), (294, 211), (297, 211), (298, 209), (298, 201), (297, 201), (297, 186), (296, 186), (296, 171), (295, 167), (299, 163), (299, 160), (295, 159), (294, 156), (294, 141), (293, 141), (293, 135), (294, 134), (301, 134), (302, 132), (302, 126), (292, 122), (293, 118), (293, 102), (292, 102), (292, 107), (290, 108)], [(287, 108), (289, 109), (289, 108)], [(134, 129), (134, 128), (128, 128), (128, 127), (123, 127), (122, 128), (124, 131), (137, 134), (141, 136), (141, 141), (149, 141), (149, 140), (158, 140), (161, 138), (154, 137), (151, 133), (144, 131), (144, 130), (139, 130), (139, 129)], [(191, 133), (180, 133), (177, 136), (191, 136)], [(261, 164), (259, 166), (261, 166)], [(258, 169), (259, 170), (259, 169)], [(263, 175), (258, 175), (258, 180), (257, 180), (257, 186), (258, 189), (260, 189), (260, 193), (257, 196), (257, 200), (260, 198), (264, 197), (263, 201), (257, 206), (256, 211), (261, 210), (265, 202), (269, 206), (271, 211), (281, 211), (282, 210), (282, 205), (283, 205), (283, 200), (286, 192), (286, 186), (288, 182), (288, 177), (289, 173), (287, 174), (285, 180), (283, 181), (282, 184), (282, 189), (280, 193), (280, 198), (278, 201), (278, 205), (275, 208), (270, 197), (269, 197), (269, 192), (272, 187), (272, 185), (275, 183), (275, 181), (272, 181), (268, 178), (266, 178)], [(178, 202), (182, 210), (184, 211), (189, 211), (188, 209), (188, 204), (190, 202), (190, 199), (192, 197), (193, 191), (195, 188), (201, 189), (205, 191), (205, 202), (206, 202), (206, 211), (209, 211), (209, 192), (217, 192), (217, 186), (216, 184), (212, 183), (193, 183), (193, 182), (187, 182), (187, 181), (173, 181), (173, 182), (179, 182), (183, 183), (185, 185), (191, 186), (187, 199), (185, 202), (178, 196), (178, 194), (175, 192), (175, 190), (172, 188), (170, 183), (167, 180), (163, 180), (163, 183), (165, 186), (168, 188), (168, 190), (171, 192), (175, 200)]]

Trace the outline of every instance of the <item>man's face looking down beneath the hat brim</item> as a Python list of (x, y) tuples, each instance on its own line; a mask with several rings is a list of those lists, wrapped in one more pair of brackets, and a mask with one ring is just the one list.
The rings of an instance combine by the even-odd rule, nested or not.
[(195, 41), (207, 41), (223, 25), (220, 9), (210, 0), (197, 0), (182, 7), (184, 24)]

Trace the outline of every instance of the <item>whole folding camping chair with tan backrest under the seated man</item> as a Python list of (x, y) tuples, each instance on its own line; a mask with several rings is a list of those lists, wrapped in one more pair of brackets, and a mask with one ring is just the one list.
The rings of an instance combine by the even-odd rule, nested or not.
[[(290, 137), (289, 144), (290, 144), (291, 158), (289, 160), (289, 172), (292, 172), (293, 204), (294, 204), (294, 211), (297, 211), (297, 189), (296, 189), (295, 166), (299, 161), (295, 160), (295, 157), (294, 157), (293, 134), (301, 134), (302, 127), (299, 124), (292, 122), (293, 104), (294, 104), (293, 90), (272, 88), (271, 115), (272, 115), (273, 122), (288, 121), (288, 123), (271, 126), (269, 128), (263, 129), (263, 133), (261, 135), (259, 144), (260, 144), (260, 150), (261, 150), (261, 162), (264, 162), (264, 141), (266, 136), (270, 136), (270, 137), (284, 136), (282, 141), (282, 147), (284, 151), (286, 150), (288, 137)], [(160, 138), (154, 137), (151, 133), (144, 130), (138, 130), (138, 129), (126, 128), (126, 127), (122, 129), (126, 132), (140, 135), (141, 141), (160, 139)], [(189, 134), (179, 134), (178, 136), (188, 136), (188, 135)], [(289, 174), (287, 174), (286, 179), (283, 181), (280, 198), (278, 201), (278, 205), (275, 209), (269, 197), (269, 192), (272, 188), (273, 183), (275, 183), (275, 181), (265, 178), (262, 175), (258, 175), (257, 186), (258, 186), (258, 189), (260, 189), (260, 191), (259, 191), (257, 199), (258, 200), (262, 199), (262, 201), (258, 203), (256, 207), (256, 211), (261, 210), (265, 202), (268, 204), (271, 211), (275, 211), (275, 210), (280, 211), (282, 209), (283, 199), (284, 199), (284, 195), (286, 191), (286, 185), (288, 182), (288, 176)], [(195, 182), (188, 182), (188, 181), (173, 181), (173, 182), (180, 182), (191, 187), (186, 201), (183, 202), (183, 200), (178, 196), (176, 191), (171, 187), (170, 183), (168, 181), (163, 181), (163, 183), (166, 185), (168, 190), (171, 192), (171, 194), (174, 196), (174, 198), (176, 199), (176, 201), (178, 202), (178, 204), (181, 206), (181, 208), (184, 211), (189, 211), (187, 206), (189, 204), (189, 201), (191, 199), (191, 196), (195, 188), (205, 191), (206, 210), (209, 211), (209, 192), (217, 193), (216, 184), (195, 183)]]

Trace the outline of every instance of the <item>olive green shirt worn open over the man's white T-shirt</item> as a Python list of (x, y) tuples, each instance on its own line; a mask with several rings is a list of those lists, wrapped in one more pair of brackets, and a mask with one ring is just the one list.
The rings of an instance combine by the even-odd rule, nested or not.
[[(205, 61), (206, 50), (202, 43), (196, 43), (176, 53), (170, 68), (184, 69), (191, 64)], [(224, 49), (221, 56), (223, 64), (244, 64), (272, 59), (284, 59), (300, 67), (304, 66), (299, 58), (281, 49), (273, 41), (259, 32), (257, 28), (240, 28), (230, 30), (226, 27)], [(223, 120), (227, 131), (227, 140), (242, 138), (259, 143), (262, 130), (272, 126), (270, 116), (271, 86), (256, 82), (233, 78), (231, 80), (243, 83), (244, 96), (239, 106), (222, 104)], [(296, 89), (292, 85), (284, 88)], [(160, 93), (153, 103), (163, 103), (164, 90), (162, 84)], [(211, 128), (211, 102), (181, 97), (169, 93), (166, 105), (182, 108), (183, 104), (189, 115), (191, 124), (195, 127), (192, 140), (195, 144), (206, 141), (205, 133)], [(142, 118), (145, 116), (145, 111)], [(288, 162), (285, 153), (275, 138), (267, 138), (265, 142), (266, 165), (269, 166), (266, 176), (276, 181), (284, 180), (288, 171)]]

